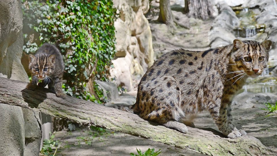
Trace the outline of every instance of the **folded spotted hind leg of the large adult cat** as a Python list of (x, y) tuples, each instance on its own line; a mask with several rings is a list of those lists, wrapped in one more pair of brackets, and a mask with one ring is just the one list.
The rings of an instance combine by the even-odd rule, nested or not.
[[(159, 123), (181, 133), (187, 133), (185, 124), (178, 122), (185, 116), (180, 109), (180, 88), (171, 76), (164, 76), (153, 81), (154, 85), (145, 83), (139, 90), (139, 116), (145, 120)], [(135, 112), (135, 111), (134, 111)]]

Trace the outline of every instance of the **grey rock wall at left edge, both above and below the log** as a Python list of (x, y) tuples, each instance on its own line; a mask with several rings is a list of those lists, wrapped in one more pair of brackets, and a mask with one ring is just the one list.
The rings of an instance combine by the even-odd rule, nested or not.
[[(0, 1), (0, 77), (29, 82), (21, 64), (22, 19), (20, 0)], [(0, 103), (0, 116), (0, 155), (38, 155), (41, 142), (39, 113)]]

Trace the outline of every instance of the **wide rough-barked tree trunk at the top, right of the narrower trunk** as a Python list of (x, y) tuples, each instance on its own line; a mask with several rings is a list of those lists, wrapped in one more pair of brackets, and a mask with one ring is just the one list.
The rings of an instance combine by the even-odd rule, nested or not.
[(213, 13), (209, 0), (185, 0), (184, 11), (188, 13), (189, 17), (201, 18), (203, 20), (209, 18)]

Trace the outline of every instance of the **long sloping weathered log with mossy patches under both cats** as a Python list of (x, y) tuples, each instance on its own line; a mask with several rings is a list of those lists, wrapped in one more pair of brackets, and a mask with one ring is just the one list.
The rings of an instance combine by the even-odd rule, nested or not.
[[(67, 96), (57, 98), (47, 88), (25, 89), (27, 83), (0, 77), (0, 103), (16, 105), (65, 118), (82, 125), (112, 129), (171, 146), (206, 155), (275, 155), (258, 139), (244, 135), (236, 139), (224, 138), (213, 129), (188, 127), (183, 134), (143, 120), (136, 114), (124, 112), (89, 101)], [(1, 110), (0, 110), (1, 111)]]

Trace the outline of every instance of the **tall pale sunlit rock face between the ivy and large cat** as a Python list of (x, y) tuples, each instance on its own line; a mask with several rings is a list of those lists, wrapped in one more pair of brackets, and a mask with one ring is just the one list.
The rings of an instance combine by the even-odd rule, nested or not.
[(110, 79), (116, 77), (114, 83), (132, 91), (133, 75), (143, 75), (154, 63), (152, 34), (144, 16), (149, 10), (149, 1), (113, 0), (113, 3), (120, 19), (115, 21), (117, 53), (112, 61), (114, 68), (110, 69)]

